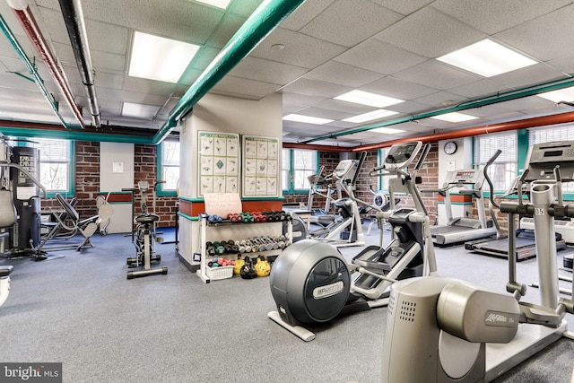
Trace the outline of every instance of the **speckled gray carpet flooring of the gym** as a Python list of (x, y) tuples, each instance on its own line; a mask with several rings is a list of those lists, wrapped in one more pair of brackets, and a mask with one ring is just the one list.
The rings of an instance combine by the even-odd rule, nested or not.
[[(386, 232), (388, 236), (388, 231)], [(378, 231), (366, 237), (378, 243)], [(94, 248), (14, 265), (0, 308), (0, 361), (63, 363), (65, 382), (377, 382), (386, 309), (311, 328), (302, 342), (267, 318), (275, 309), (268, 278), (205, 284), (158, 246), (167, 275), (126, 280), (130, 238), (94, 237)], [(361, 248), (344, 248), (350, 258)], [(569, 250), (570, 251), (570, 250)], [(438, 248), (439, 272), (504, 292), (502, 259)], [(559, 255), (561, 264), (561, 255)], [(535, 282), (535, 260), (518, 265)], [(530, 289), (526, 300), (536, 301)], [(570, 331), (574, 318), (568, 315)], [(574, 341), (562, 339), (496, 382), (570, 382)]]

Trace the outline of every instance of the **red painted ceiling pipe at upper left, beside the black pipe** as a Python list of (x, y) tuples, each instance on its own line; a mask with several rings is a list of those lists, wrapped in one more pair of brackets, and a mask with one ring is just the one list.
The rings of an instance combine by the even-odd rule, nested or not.
[[(11, 2), (8, 2), (8, 4), (13, 6)], [(31, 43), (38, 51), (39, 56), (44, 61), (44, 64), (46, 64), (49, 73), (52, 74), (57, 87), (60, 89), (60, 91), (62, 91), (66, 102), (70, 106), (70, 109), (72, 109), (72, 113), (74, 113), (74, 117), (78, 120), (80, 126), (85, 128), (82, 112), (75, 104), (74, 94), (70, 90), (70, 87), (68, 86), (65, 75), (63, 74), (60, 66), (57, 65), (56, 59), (48, 47), (46, 39), (44, 39), (44, 36), (42, 36), (38, 23), (36, 22), (34, 15), (30, 12), (30, 6), (26, 6), (23, 9), (17, 9), (13, 7), (13, 12), (15, 13), (18, 21), (22, 24), (22, 28), (28, 35)]]

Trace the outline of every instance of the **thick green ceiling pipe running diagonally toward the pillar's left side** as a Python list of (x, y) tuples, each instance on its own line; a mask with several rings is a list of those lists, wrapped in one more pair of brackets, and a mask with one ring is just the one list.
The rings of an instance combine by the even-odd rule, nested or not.
[(222, 80), (243, 58), (247, 57), (269, 33), (304, 1), (265, 0), (261, 3), (170, 111), (168, 121), (153, 136), (153, 143), (160, 144), (177, 125), (177, 121), (183, 118), (196, 105), (197, 101), (204, 97), (205, 93)]

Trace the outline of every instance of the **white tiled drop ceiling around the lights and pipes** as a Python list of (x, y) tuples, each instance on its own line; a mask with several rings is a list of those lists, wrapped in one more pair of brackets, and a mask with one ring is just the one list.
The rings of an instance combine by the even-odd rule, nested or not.
[[(84, 0), (83, 15), (104, 126), (157, 130), (205, 67), (253, 13), (260, 0), (232, 0), (227, 10), (191, 0)], [(91, 124), (88, 100), (57, 0), (30, 0), (39, 27), (63, 65), (76, 104)], [(60, 112), (73, 122), (38, 53), (0, 0), (0, 14), (30, 60), (38, 65)], [(259, 100), (283, 93), (283, 115), (332, 119), (325, 125), (283, 121), (284, 142), (356, 146), (428, 135), (568, 111), (538, 96), (498, 102), (465, 113), (464, 123), (432, 118), (393, 124), (403, 133), (354, 131), (361, 126), (408, 119), (574, 74), (574, 4), (565, 0), (307, 0), (271, 32), (211, 92)], [(127, 75), (135, 31), (198, 44), (197, 56), (178, 83)], [(535, 65), (490, 78), (439, 62), (436, 58), (482, 39), (491, 39), (535, 60)], [(0, 35), (0, 120), (58, 124), (38, 86), (23, 76), (26, 67)], [(404, 102), (387, 107), (396, 115), (355, 124), (343, 119), (376, 108), (334, 98), (358, 89)], [(572, 100), (566, 100), (572, 101)], [(152, 117), (123, 117), (123, 103), (159, 109)]]

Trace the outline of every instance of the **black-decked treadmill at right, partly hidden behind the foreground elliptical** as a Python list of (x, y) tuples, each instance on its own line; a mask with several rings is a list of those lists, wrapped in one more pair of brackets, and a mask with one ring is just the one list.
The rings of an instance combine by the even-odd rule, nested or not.
[[(486, 166), (483, 170), (485, 173), (488, 169)], [(523, 177), (517, 177), (512, 186), (509, 190), (500, 196), (500, 198), (506, 198), (508, 196), (518, 196), (518, 190), (520, 191), (519, 199), (522, 196), (526, 195), (530, 197), (530, 185), (524, 185), (524, 177), (526, 175), (523, 174)], [(491, 212), (491, 215), (494, 217), (494, 213)], [(525, 220), (533, 220), (532, 228), (525, 228), (522, 227), (522, 224)], [(535, 241), (535, 231), (534, 231), (534, 218), (532, 217), (522, 217), (519, 220), (520, 222), (520, 229), (515, 231), (515, 247), (514, 247), (514, 256), (517, 262), (524, 261), (526, 259), (536, 257), (536, 241)], [(526, 221), (528, 222), (528, 221)], [(555, 221), (554, 224), (556, 225), (559, 221)], [(498, 224), (496, 225), (498, 228)], [(566, 248), (566, 241), (562, 239), (561, 233), (555, 231), (554, 237), (556, 240), (556, 250), (563, 250)], [(509, 239), (508, 236), (501, 236), (500, 232), (497, 235), (496, 239), (483, 239), (483, 240), (474, 240), (465, 243), (465, 249), (471, 250), (474, 253), (482, 254), (484, 256), (489, 257), (499, 257), (499, 258), (509, 258)]]

